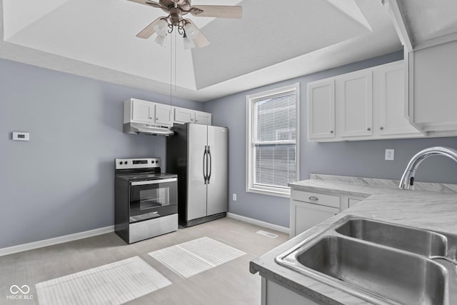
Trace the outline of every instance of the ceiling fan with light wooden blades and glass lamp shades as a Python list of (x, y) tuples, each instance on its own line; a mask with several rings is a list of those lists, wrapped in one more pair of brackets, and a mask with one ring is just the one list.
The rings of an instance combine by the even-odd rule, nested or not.
[(146, 26), (137, 37), (148, 39), (157, 33), (156, 42), (161, 46), (166, 45), (166, 36), (171, 34), (174, 27), (179, 34), (184, 36), (184, 48), (190, 49), (194, 46), (200, 48), (209, 45), (208, 39), (201, 33), (200, 29), (190, 19), (183, 16), (191, 13), (196, 17), (215, 17), (241, 19), (243, 8), (241, 6), (221, 6), (221, 5), (191, 5), (191, 0), (129, 0), (139, 4), (156, 7), (165, 11), (168, 16), (159, 17)]

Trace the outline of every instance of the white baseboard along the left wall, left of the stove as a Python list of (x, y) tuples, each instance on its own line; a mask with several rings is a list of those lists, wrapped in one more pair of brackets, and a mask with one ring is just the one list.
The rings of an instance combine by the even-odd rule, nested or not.
[(55, 244), (62, 244), (68, 241), (76, 241), (78, 239), (86, 239), (88, 237), (97, 236), (101, 234), (114, 232), (114, 226), (105, 226), (104, 228), (79, 232), (75, 234), (69, 234), (59, 237), (54, 237), (53, 239), (44, 239), (42, 241), (34, 241), (29, 244), (20, 244), (17, 246), (9, 246), (7, 248), (0, 249), (0, 256), (5, 256), (9, 254), (19, 253), (22, 251), (29, 251), (33, 249), (42, 248), (44, 246), (52, 246)]

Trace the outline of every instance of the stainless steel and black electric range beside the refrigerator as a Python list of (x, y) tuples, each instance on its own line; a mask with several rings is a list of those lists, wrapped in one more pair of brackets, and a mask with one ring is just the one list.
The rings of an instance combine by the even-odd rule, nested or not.
[(115, 231), (128, 244), (178, 229), (178, 176), (159, 158), (116, 159)]

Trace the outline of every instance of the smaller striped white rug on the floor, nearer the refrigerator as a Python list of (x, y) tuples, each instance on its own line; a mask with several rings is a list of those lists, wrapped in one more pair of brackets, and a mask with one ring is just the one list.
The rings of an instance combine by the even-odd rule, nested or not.
[(180, 276), (188, 278), (243, 256), (243, 251), (209, 237), (186, 241), (149, 253)]

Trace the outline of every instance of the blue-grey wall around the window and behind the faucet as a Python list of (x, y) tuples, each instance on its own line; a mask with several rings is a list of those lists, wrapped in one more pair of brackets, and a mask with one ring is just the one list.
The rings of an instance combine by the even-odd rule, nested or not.
[[(457, 138), (398, 139), (384, 141), (351, 141), (314, 143), (307, 141), (306, 84), (309, 81), (365, 69), (403, 59), (396, 52), (336, 69), (301, 76), (277, 84), (244, 91), (206, 102), (204, 111), (213, 114), (213, 124), (229, 127), (229, 212), (288, 227), (288, 199), (246, 193), (246, 95), (274, 89), (296, 82), (301, 87), (300, 106), (300, 179), (309, 174), (336, 174), (382, 179), (400, 179), (411, 156), (430, 146), (457, 148)], [(395, 149), (395, 161), (384, 161), (384, 150)], [(435, 157), (421, 164), (418, 181), (457, 183), (457, 164), (450, 159)], [(232, 201), (231, 194), (237, 194)]]

